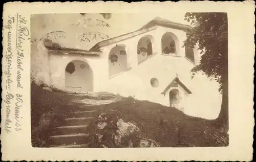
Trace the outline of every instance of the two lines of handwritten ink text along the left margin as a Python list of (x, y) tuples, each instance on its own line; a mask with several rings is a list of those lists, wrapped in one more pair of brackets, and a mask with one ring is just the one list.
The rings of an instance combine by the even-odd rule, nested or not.
[[(15, 54), (16, 49), (16, 87), (23, 88), (21, 79), (23, 77), (22, 72), (23, 68), (23, 59), (25, 55), (25, 43), (29, 36), (29, 30), (27, 28), (27, 19), (26, 17), (17, 13), (17, 16), (8, 16), (6, 19), (6, 25), (4, 25), (5, 30), (7, 30), (6, 35), (6, 53), (4, 55), (4, 64), (5, 68), (4, 78), (6, 80), (6, 88), (3, 89), (3, 102), (5, 103), (5, 111), (6, 111), (6, 119), (4, 121), (4, 130), (9, 134), (12, 132), (12, 127), (14, 124), (14, 130), (20, 131), (22, 130), (22, 124), (20, 119), (22, 119), (20, 115), (20, 110), (23, 106), (23, 95), (22, 94), (12, 94), (11, 88), (13, 85), (12, 76), (14, 75), (12, 72), (13, 66), (13, 55)], [(15, 33), (16, 30), (16, 33)], [(16, 35), (16, 45), (15, 38), (13, 36)], [(15, 73), (15, 72), (14, 72)], [(13, 103), (14, 102), (14, 103)], [(12, 104), (13, 103), (13, 104)], [(14, 107), (15, 105), (15, 107)], [(14, 115), (14, 118), (12, 117)]]

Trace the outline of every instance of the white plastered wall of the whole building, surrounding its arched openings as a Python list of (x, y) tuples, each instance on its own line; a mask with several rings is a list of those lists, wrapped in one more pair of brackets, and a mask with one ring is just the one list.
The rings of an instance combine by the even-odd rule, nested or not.
[[(162, 55), (161, 38), (165, 32), (174, 33), (179, 40), (179, 56)], [(145, 61), (138, 63), (137, 45), (140, 38), (152, 35), (153, 55)], [(57, 55), (49, 54), (45, 60), (49, 60), (49, 68), (44, 73), (46, 83), (68, 90), (65, 87), (65, 68), (67, 64), (74, 60), (88, 63), (92, 68), (93, 90), (108, 91), (121, 96), (135, 96), (139, 100), (148, 100), (169, 106), (169, 91), (165, 96), (161, 92), (173, 81), (178, 73), (181, 82), (191, 90), (193, 94), (184, 99), (185, 113), (206, 119), (215, 119), (218, 116), (221, 95), (218, 92), (218, 84), (202, 75), (197, 75), (195, 79), (190, 79), (190, 70), (194, 64), (188, 61), (185, 56), (185, 49), (181, 48), (186, 39), (184, 31), (158, 27), (156, 30), (137, 35), (135, 37), (122, 40), (118, 43), (110, 44), (101, 48), (102, 55), (99, 57), (78, 56), (78, 55)], [(109, 77), (109, 53), (115, 45), (124, 44), (127, 55), (127, 71), (122, 74)], [(44, 52), (44, 50), (42, 50)], [(45, 51), (47, 53), (47, 51)], [(199, 61), (198, 53), (195, 53), (196, 62)], [(46, 55), (48, 56), (48, 55)], [(46, 67), (46, 66), (44, 66)], [(157, 78), (158, 87), (152, 87), (150, 80)], [(87, 80), (84, 80), (85, 82)], [(89, 82), (89, 81), (88, 81)], [(182, 88), (181, 88), (182, 90)], [(184, 92), (184, 90), (182, 90)]]

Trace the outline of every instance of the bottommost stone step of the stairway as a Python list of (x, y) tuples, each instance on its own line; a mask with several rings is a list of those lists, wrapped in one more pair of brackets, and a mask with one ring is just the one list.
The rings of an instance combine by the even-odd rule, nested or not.
[(53, 135), (50, 136), (51, 143), (55, 146), (63, 145), (80, 145), (86, 144), (89, 140), (89, 134), (80, 133), (80, 134), (65, 134), (65, 135)]

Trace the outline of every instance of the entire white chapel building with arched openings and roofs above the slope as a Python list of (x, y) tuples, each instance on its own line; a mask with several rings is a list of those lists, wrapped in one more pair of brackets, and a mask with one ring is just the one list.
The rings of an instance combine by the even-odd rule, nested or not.
[[(106, 91), (176, 107), (196, 117), (218, 116), (218, 83), (202, 74), (191, 79), (200, 51), (182, 47), (190, 26), (156, 16), (134, 31), (112, 36), (104, 33), (105, 28), (97, 30), (98, 22), (101, 27), (111, 26), (98, 14), (81, 21), (83, 27), (77, 22), (66, 31), (56, 27), (46, 35), (35, 34), (32, 77), (61, 90)], [(95, 24), (90, 31), (84, 28)], [(86, 44), (90, 45), (84, 48)]]

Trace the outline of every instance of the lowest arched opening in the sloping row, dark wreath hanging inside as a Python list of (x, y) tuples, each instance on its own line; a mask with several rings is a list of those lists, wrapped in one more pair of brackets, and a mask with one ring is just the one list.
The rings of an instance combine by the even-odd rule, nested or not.
[(127, 70), (127, 55), (124, 44), (118, 44), (109, 53), (109, 77)]

